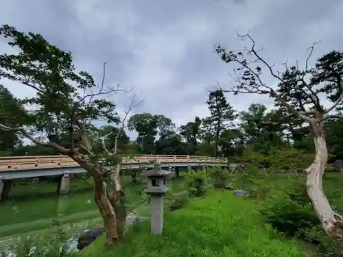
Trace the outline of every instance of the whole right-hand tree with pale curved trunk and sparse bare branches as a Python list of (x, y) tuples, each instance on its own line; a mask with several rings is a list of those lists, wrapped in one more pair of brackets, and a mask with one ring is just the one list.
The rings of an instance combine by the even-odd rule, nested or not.
[[(329, 112), (342, 106), (343, 53), (339, 51), (326, 53), (318, 58), (314, 68), (309, 68), (308, 61), (314, 51), (316, 45), (314, 43), (308, 49), (309, 56), (303, 69), (298, 65), (285, 65), (285, 71), (277, 73), (273, 65), (268, 64), (261, 57), (260, 51), (255, 47), (255, 40), (249, 34), (241, 38), (248, 38), (252, 44), (244, 52), (226, 51), (220, 45), (215, 49), (224, 62), (239, 65), (239, 68), (235, 69), (237, 84), (228, 91), (235, 95), (239, 93), (269, 95), (287, 109), (289, 116), (298, 117), (309, 124), (314, 138), (316, 158), (305, 170), (307, 193), (325, 232), (343, 248), (343, 217), (333, 210), (322, 190), (322, 175), (328, 159), (324, 119), (328, 117)], [(248, 56), (252, 56), (254, 60), (248, 60)], [(264, 70), (279, 81), (277, 89), (262, 81), (261, 74)], [(327, 88), (327, 85), (330, 85), (330, 88)], [(322, 106), (319, 97), (319, 93), (325, 90), (335, 95), (330, 99), (333, 103), (328, 108)]]

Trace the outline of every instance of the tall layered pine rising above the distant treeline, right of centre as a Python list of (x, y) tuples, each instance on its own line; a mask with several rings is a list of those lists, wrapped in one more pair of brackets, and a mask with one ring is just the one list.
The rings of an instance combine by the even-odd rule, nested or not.
[(209, 100), (206, 101), (209, 106), (211, 116), (206, 118), (205, 124), (208, 124), (213, 141), (214, 141), (214, 156), (217, 156), (218, 147), (220, 146), (220, 135), (228, 126), (233, 125), (233, 121), (237, 117), (233, 106), (228, 103), (221, 89), (214, 90), (209, 93)]

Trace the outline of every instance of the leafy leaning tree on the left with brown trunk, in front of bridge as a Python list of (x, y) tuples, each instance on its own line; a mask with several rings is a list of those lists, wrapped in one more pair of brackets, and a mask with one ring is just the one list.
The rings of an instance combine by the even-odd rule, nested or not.
[[(113, 188), (115, 195), (108, 195), (106, 170), (101, 162), (102, 153), (95, 153), (95, 140), (88, 133), (91, 121), (104, 119), (108, 123), (119, 123), (115, 103), (101, 97), (118, 93), (119, 88), (97, 86), (93, 77), (85, 71), (77, 72), (70, 52), (51, 45), (43, 36), (19, 32), (10, 25), (0, 28), (0, 36), (8, 40), (10, 47), (19, 51), (0, 55), (0, 77), (19, 82), (36, 91), (34, 97), (27, 97), (24, 103), (34, 106), (30, 110), (38, 130), (47, 133), (49, 140), (35, 138), (27, 127), (20, 124), (0, 123), (0, 130), (21, 134), (41, 147), (51, 147), (67, 155), (93, 176), (95, 182), (94, 199), (104, 219), (106, 244), (113, 245), (119, 238), (113, 198), (122, 191)], [(94, 93), (97, 90), (97, 93)], [(62, 136), (69, 137), (68, 146), (61, 143)], [(116, 158), (108, 160), (116, 164)], [(111, 177), (112, 178), (112, 177)], [(113, 184), (120, 184), (113, 178)]]

